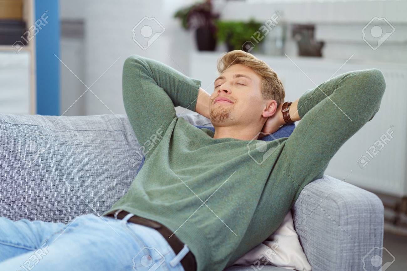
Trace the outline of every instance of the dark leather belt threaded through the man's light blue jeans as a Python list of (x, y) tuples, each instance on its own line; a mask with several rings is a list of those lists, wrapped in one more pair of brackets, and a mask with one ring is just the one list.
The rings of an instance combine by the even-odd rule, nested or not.
[[(125, 210), (112, 210), (111, 212), (107, 213), (105, 216), (115, 217), (117, 219), (123, 219), (128, 214), (129, 214), (129, 212), (127, 212)], [(128, 221), (153, 228), (154, 230), (157, 230), (158, 232), (160, 232), (160, 234), (165, 238), (165, 240), (168, 242), (168, 244), (171, 246), (171, 248), (175, 252), (175, 255), (177, 255), (179, 253), (179, 251), (181, 251), (181, 249), (184, 248), (184, 243), (182, 243), (182, 241), (179, 240), (178, 237), (170, 229), (168, 229), (166, 226), (162, 225), (160, 222), (153, 221), (151, 219), (147, 219), (144, 217), (139, 217), (137, 215), (130, 217), (130, 219)], [(171, 238), (170, 238), (170, 236), (171, 236)], [(197, 263), (195, 261), (195, 256), (194, 256), (194, 254), (192, 254), (191, 251), (189, 251), (184, 256), (184, 258), (182, 258), (181, 264), (182, 264), (182, 267), (184, 267), (185, 271), (196, 271), (197, 270)]]

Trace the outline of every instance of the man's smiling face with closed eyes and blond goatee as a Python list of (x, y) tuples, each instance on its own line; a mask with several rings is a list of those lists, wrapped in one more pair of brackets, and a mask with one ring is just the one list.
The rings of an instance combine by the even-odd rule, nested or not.
[[(261, 97), (261, 77), (241, 64), (228, 67), (214, 82), (210, 120), (215, 126), (252, 124), (260, 121), (266, 106)], [(231, 102), (218, 101), (226, 98)]]

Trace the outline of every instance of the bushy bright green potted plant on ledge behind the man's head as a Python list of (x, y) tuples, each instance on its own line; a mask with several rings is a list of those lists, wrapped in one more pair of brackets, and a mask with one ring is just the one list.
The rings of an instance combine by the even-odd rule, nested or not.
[[(255, 22), (254, 19), (250, 19), (248, 22), (217, 20), (215, 25), (217, 27), (216, 37), (218, 43), (225, 42), (228, 51), (243, 50), (249, 52), (253, 49), (253, 45), (261, 43), (261, 41), (253, 43), (252, 36), (262, 26), (260, 22)], [(252, 46), (246, 46), (249, 44), (252, 44)], [(254, 46), (254, 48), (256, 48), (254, 50), (258, 50), (258, 46)]]

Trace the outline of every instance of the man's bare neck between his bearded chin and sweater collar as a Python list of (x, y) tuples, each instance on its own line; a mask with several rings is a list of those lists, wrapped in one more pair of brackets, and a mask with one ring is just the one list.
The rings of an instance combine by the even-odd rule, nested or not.
[(217, 126), (213, 124), (215, 128), (215, 134), (213, 135), (214, 139), (219, 138), (235, 138), (240, 140), (252, 140), (254, 137), (257, 139), (258, 133), (261, 131), (260, 125), (243, 125), (243, 124), (234, 124), (230, 126)]

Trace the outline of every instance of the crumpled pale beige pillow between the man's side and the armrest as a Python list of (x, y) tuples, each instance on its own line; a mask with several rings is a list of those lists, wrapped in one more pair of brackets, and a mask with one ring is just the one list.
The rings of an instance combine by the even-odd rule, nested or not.
[(260, 262), (292, 270), (311, 270), (294, 230), (291, 210), (274, 234), (236, 260), (234, 264), (252, 265)]

